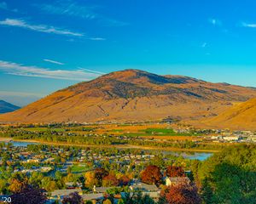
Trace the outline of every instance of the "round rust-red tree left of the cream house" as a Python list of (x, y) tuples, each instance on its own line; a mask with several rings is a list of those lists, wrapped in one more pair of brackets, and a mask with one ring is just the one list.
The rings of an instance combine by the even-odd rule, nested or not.
[(146, 167), (141, 173), (142, 181), (146, 184), (160, 185), (162, 177), (160, 167), (154, 165)]

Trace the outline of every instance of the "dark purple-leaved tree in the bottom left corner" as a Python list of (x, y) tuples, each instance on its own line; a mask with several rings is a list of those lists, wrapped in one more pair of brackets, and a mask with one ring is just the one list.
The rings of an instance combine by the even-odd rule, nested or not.
[(20, 192), (11, 195), (12, 203), (15, 204), (44, 204), (46, 196), (43, 190), (26, 185)]

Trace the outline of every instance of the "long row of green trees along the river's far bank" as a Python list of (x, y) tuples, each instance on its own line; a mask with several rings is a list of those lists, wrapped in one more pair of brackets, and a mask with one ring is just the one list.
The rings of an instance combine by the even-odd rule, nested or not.
[(184, 149), (203, 149), (203, 150), (221, 150), (224, 146), (219, 144), (198, 144), (189, 140), (169, 140), (166, 143), (160, 143), (157, 141), (148, 141), (143, 138), (132, 138), (119, 139), (112, 135), (104, 134), (96, 135), (95, 133), (79, 134), (79, 133), (68, 133), (58, 131), (29, 131), (20, 129), (8, 129), (0, 133), (0, 137), (8, 137), (14, 139), (36, 139), (47, 142), (61, 142), (68, 144), (89, 144), (89, 145), (100, 145), (100, 144), (133, 144), (142, 146), (157, 146), (157, 147), (172, 147), (172, 148), (184, 148)]

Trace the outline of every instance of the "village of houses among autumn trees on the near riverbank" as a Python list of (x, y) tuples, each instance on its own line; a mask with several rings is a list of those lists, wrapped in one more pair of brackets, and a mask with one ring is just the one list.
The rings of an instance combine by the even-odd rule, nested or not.
[[(165, 164), (161, 165), (167, 165), (173, 164), (176, 160), (186, 167), (185, 162), (188, 161), (185, 159), (176, 156), (161, 157), (160, 154), (150, 151), (79, 149), (42, 144), (17, 146), (2, 143), (0, 181), (5, 176), (15, 179), (20, 173), (31, 178), (41, 177), (42, 182), (39, 182), (39, 185), (45, 190), (48, 203), (61, 203), (65, 196), (74, 192), (77, 192), (84, 201), (102, 203), (106, 196), (113, 195), (113, 190), (116, 191), (112, 198), (113, 203), (117, 203), (125, 193), (134, 190), (158, 201), (163, 185), (190, 182), (189, 178), (184, 175), (181, 178), (163, 177), (160, 186), (143, 183), (140, 174), (149, 165), (154, 165), (154, 162), (159, 165), (162, 161)], [(101, 182), (90, 182), (90, 176), (96, 171), (105, 171), (102, 169), (108, 169), (108, 176), (102, 178)], [(189, 175), (190, 171), (185, 170)], [(8, 183), (7, 181), (6, 184)], [(9, 190), (8, 186), (1, 186), (0, 189), (2, 194)]]

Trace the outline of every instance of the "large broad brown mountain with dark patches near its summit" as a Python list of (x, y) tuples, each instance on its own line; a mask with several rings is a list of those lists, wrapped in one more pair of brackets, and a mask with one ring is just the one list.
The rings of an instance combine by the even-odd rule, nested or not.
[(116, 71), (80, 82), (0, 116), (2, 122), (195, 120), (216, 116), (233, 102), (256, 97), (256, 89), (146, 71)]

